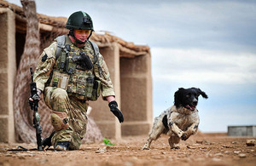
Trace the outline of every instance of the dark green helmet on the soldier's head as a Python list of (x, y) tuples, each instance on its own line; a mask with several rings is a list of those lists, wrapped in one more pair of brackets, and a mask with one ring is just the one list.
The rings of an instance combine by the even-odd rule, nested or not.
[(67, 19), (65, 28), (69, 30), (81, 29), (94, 31), (90, 15), (83, 11), (78, 11), (71, 14)]

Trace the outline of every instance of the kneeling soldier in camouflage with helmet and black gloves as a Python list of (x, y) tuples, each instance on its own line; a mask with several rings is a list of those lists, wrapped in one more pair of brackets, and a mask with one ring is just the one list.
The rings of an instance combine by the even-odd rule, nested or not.
[(94, 31), (90, 15), (83, 11), (71, 14), (66, 28), (68, 35), (57, 37), (44, 49), (34, 72), (38, 95), (44, 93), (45, 104), (51, 110), (50, 121), (55, 129), (51, 145), (59, 151), (79, 149), (86, 132), (87, 101), (97, 100), (101, 91), (110, 111), (119, 123), (124, 122), (108, 66), (96, 43), (89, 41)]

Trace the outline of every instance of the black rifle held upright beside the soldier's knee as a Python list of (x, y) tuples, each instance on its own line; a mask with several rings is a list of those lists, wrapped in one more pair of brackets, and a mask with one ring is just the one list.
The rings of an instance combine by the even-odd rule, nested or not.
[(31, 73), (31, 80), (32, 80), (32, 83), (30, 83), (30, 90), (31, 90), (31, 98), (33, 100), (33, 101), (30, 101), (30, 106), (33, 111), (33, 128), (36, 129), (38, 151), (43, 151), (42, 139), (41, 139), (42, 128), (40, 126), (40, 116), (38, 113), (39, 96), (37, 94), (37, 83), (33, 81), (32, 66), (30, 67), (30, 73)]

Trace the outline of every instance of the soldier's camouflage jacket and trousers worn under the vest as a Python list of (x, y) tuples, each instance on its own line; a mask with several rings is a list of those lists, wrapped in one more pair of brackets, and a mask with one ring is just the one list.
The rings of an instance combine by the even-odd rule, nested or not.
[[(71, 43), (70, 39), (66, 37), (67, 41)], [(83, 71), (74, 69), (75, 74), (69, 74), (67, 89), (61, 89), (53, 87), (50, 81), (52, 81), (52, 72), (58, 71), (58, 63), (60, 63), (61, 57), (55, 60), (57, 43), (56, 41), (51, 43), (48, 48), (44, 49), (38, 60), (38, 66), (34, 73), (34, 81), (37, 83), (38, 89), (44, 91), (44, 101), (51, 110), (51, 116), (57, 115), (64, 122), (60, 129), (57, 129), (54, 122), (55, 135), (52, 137), (52, 145), (55, 146), (58, 141), (69, 141), (70, 149), (79, 149), (81, 141), (84, 138), (87, 125), (86, 111), (88, 108), (88, 97), (82, 95), (78, 89), (79, 86), (73, 86), (74, 80), (78, 79), (75, 74), (84, 74), (88, 71)], [(91, 44), (87, 42), (83, 49), (79, 49), (73, 43), (70, 44), (73, 54), (79, 54), (79, 52), (84, 51), (89, 55), (90, 60), (94, 60), (94, 49)], [(102, 74), (99, 72), (101, 68)], [(55, 72), (54, 72), (55, 73)], [(91, 70), (91, 74), (95, 79), (101, 81), (102, 97), (105, 100), (106, 96), (113, 95), (113, 84), (109, 77), (108, 66), (106, 65), (102, 54), (98, 57), (98, 66), (94, 66)], [(84, 80), (81, 80), (84, 81)], [(81, 87), (82, 91), (86, 91), (85, 88)], [(53, 118), (52, 118), (53, 119)], [(51, 119), (51, 120), (52, 120)]]

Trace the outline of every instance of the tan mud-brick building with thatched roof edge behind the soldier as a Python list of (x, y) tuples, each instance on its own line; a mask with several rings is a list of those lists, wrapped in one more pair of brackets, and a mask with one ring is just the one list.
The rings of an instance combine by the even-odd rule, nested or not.
[[(64, 28), (66, 21), (67, 18), (38, 14), (41, 50), (55, 37), (67, 34), (68, 31)], [(35, 134), (27, 96), (30, 93), (31, 81), (29, 66), (35, 66), (36, 61), (22, 64), (27, 66), (27, 71), (21, 72), (24, 75), (23, 80), (16, 76), (26, 40), (26, 17), (23, 9), (0, 0), (0, 29), (0, 142), (32, 141)], [(102, 98), (90, 102), (93, 109), (90, 117), (107, 138), (119, 139), (121, 136), (148, 134), (153, 117), (150, 49), (148, 46), (125, 42), (108, 32), (94, 33), (90, 40), (97, 43), (108, 64), (125, 123), (119, 124)], [(15, 87), (15, 82), (18, 82), (18, 87)], [(14, 98), (14, 89), (20, 89), (18, 99)], [(15, 105), (18, 105), (17, 109)], [(49, 135), (47, 109), (44, 102), (40, 103), (43, 136)]]

